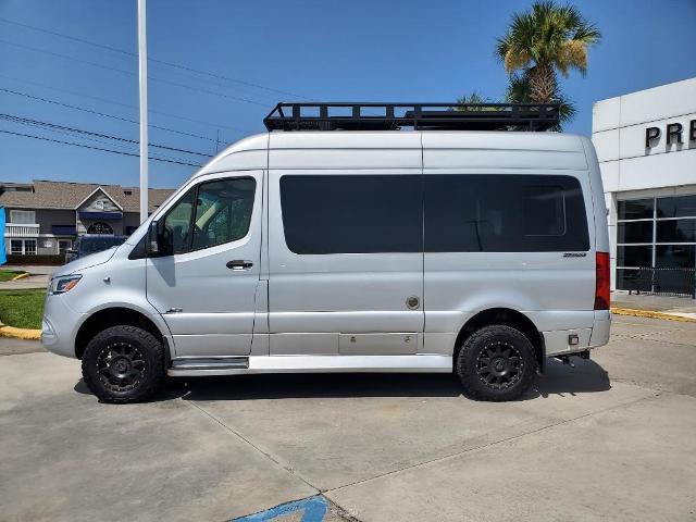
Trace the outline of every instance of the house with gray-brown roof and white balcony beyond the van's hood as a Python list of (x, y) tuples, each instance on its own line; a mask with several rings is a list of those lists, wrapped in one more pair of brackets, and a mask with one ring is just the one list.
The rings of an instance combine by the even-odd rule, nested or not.
[[(149, 211), (173, 192), (167, 188), (149, 189)], [(1, 207), (9, 254), (62, 254), (84, 234), (132, 234), (140, 223), (140, 189), (41, 179), (27, 184), (0, 182)]]

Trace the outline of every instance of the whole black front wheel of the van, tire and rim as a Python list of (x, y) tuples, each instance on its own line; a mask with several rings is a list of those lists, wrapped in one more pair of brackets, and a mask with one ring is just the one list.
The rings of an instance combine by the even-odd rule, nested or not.
[(147, 400), (164, 378), (162, 343), (137, 326), (107, 328), (85, 349), (83, 378), (104, 402)]

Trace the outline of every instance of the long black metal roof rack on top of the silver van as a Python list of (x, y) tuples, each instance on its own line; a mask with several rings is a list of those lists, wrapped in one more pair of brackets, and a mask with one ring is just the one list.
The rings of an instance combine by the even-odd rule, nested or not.
[(548, 130), (557, 103), (278, 103), (269, 130)]

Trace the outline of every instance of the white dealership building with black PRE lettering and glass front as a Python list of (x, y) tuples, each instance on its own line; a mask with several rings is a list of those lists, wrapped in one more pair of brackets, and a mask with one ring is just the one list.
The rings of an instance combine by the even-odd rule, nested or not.
[(693, 291), (696, 78), (598, 101), (612, 289)]

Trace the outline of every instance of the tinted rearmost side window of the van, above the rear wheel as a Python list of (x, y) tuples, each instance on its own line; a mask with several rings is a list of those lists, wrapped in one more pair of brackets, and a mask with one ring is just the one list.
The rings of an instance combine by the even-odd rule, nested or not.
[(583, 194), (572, 176), (425, 176), (428, 252), (588, 249)]

